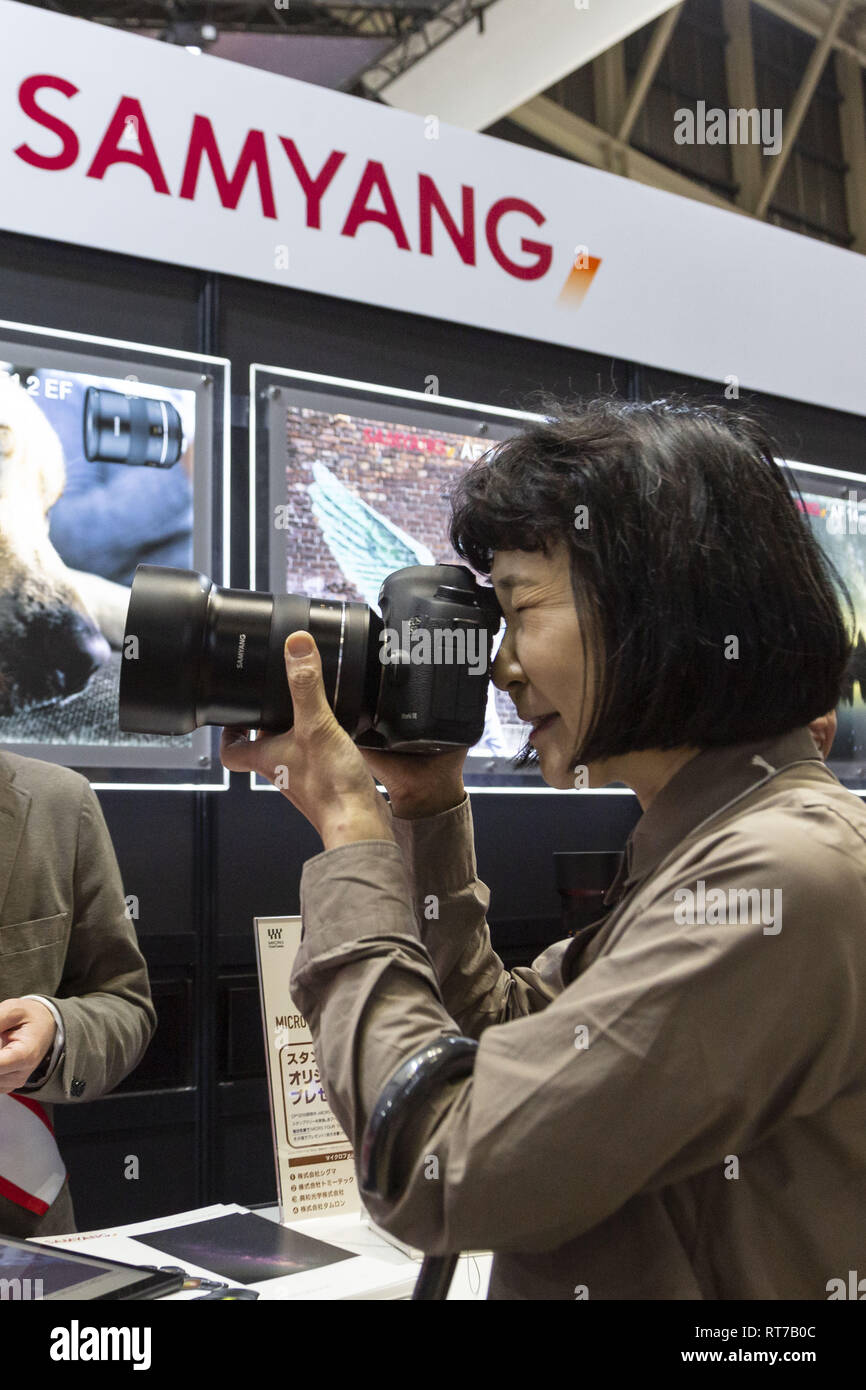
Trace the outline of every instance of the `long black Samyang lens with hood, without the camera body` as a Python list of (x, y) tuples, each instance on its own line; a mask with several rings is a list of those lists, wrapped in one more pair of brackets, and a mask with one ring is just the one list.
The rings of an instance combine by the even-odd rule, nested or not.
[(366, 603), (224, 589), (195, 570), (139, 564), (124, 634), (121, 730), (291, 728), (284, 645), (299, 628), (316, 639), (338, 723), (352, 735), (370, 728), (382, 621)]

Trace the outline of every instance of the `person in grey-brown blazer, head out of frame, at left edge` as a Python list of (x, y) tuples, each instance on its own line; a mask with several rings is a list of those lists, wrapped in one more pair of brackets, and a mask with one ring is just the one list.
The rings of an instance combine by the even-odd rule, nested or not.
[(51, 1106), (111, 1091), (154, 1027), (96, 794), (0, 751), (0, 1233), (75, 1230)]

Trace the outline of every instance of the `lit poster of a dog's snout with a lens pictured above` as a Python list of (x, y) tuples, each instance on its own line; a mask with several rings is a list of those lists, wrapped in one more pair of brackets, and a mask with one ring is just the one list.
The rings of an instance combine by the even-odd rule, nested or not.
[[(136, 564), (192, 563), (195, 398), (128, 382), (0, 360), (0, 744), (160, 741), (121, 733), (117, 688)], [(160, 420), (174, 453), (138, 467)]]

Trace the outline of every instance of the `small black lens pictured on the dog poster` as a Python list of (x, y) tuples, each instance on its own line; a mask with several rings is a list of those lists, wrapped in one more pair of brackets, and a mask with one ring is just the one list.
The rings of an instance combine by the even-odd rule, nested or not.
[(124, 396), (88, 386), (85, 459), (89, 463), (145, 464), (171, 468), (181, 457), (183, 427), (170, 400)]

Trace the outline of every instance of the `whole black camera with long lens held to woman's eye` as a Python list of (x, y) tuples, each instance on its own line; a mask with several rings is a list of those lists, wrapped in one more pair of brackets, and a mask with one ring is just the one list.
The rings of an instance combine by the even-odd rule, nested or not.
[(193, 570), (139, 564), (120, 681), (125, 733), (188, 734), (203, 724), (292, 727), (289, 632), (311, 632), (325, 696), (357, 744), (402, 752), (471, 746), (484, 731), (500, 610), (461, 564), (389, 575), (382, 617), (366, 603), (256, 594)]

